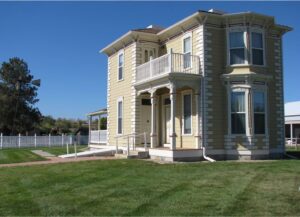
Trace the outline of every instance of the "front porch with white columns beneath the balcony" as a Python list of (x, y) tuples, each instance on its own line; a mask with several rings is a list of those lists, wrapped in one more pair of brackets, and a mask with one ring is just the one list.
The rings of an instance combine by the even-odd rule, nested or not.
[(136, 129), (138, 134), (149, 135), (150, 156), (158, 151), (167, 153), (166, 150), (200, 150), (200, 76), (173, 78), (160, 86), (151, 84), (151, 88), (140, 89), (136, 96), (139, 102)]

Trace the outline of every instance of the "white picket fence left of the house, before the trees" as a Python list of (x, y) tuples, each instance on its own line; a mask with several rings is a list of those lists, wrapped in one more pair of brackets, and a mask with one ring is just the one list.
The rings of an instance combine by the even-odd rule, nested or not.
[(0, 134), (0, 149), (3, 148), (27, 148), (27, 147), (54, 147), (65, 146), (67, 144), (88, 144), (88, 136), (3, 136)]

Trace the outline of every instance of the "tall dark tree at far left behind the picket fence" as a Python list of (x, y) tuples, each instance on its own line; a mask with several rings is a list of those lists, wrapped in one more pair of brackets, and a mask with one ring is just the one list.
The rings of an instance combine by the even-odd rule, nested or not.
[(3, 62), (0, 68), (0, 131), (8, 134), (35, 129), (41, 113), (34, 105), (37, 87), (27, 63), (20, 58)]

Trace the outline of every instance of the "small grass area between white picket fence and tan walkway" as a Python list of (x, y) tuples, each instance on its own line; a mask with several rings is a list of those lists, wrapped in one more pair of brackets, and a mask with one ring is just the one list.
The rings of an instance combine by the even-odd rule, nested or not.
[[(77, 151), (83, 151), (87, 146), (77, 146)], [(37, 154), (31, 152), (31, 150), (43, 150), (49, 152), (53, 155), (67, 154), (66, 147), (37, 147), (37, 148), (21, 148), (21, 149), (3, 149), (0, 150), (0, 164), (9, 163), (22, 163), (31, 161), (41, 161), (46, 160)], [(69, 153), (74, 153), (74, 146), (70, 146)]]

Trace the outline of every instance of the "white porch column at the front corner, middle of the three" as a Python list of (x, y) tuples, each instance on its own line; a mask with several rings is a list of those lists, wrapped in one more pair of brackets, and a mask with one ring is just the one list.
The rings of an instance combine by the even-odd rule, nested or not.
[(171, 100), (171, 150), (176, 149), (176, 88), (174, 85), (170, 88), (170, 100)]

